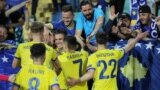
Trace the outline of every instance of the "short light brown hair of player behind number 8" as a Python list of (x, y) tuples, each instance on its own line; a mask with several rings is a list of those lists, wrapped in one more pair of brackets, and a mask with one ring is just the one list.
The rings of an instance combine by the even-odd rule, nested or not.
[(31, 25), (31, 33), (44, 32), (44, 24), (41, 22), (33, 22)]

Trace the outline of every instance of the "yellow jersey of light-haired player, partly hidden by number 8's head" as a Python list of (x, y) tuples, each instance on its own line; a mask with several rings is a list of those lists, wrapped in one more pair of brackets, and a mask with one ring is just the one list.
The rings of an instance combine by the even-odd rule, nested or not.
[[(33, 60), (30, 57), (31, 55), (30, 47), (36, 43), (38, 42), (26, 42), (18, 45), (15, 57), (21, 60), (21, 66), (33, 64)], [(52, 67), (51, 60), (52, 59), (55, 60), (56, 51), (53, 50), (53, 48), (48, 46), (47, 44), (45, 44), (45, 46), (46, 46), (46, 58), (44, 61), (44, 65), (51, 68)]]

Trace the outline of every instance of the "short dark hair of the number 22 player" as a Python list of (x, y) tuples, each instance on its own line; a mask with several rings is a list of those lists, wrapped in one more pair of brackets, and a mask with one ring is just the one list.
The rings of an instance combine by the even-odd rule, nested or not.
[(106, 44), (108, 41), (108, 35), (105, 32), (98, 32), (96, 34), (96, 41), (98, 44)]

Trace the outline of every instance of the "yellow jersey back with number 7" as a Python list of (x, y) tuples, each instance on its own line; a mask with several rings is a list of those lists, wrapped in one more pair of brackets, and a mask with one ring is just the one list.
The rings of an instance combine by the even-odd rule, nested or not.
[[(76, 51), (74, 53), (63, 53), (58, 57), (62, 72), (65, 78), (80, 78), (86, 72), (88, 53), (85, 51)], [(78, 84), (69, 90), (88, 90), (87, 83)]]

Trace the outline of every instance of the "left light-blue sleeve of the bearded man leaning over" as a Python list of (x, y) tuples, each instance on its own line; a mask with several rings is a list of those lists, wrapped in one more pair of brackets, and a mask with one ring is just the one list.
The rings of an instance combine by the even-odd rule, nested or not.
[(79, 13), (78, 16), (77, 16), (77, 23), (76, 23), (76, 30), (83, 30), (83, 16), (82, 16), (82, 13)]

